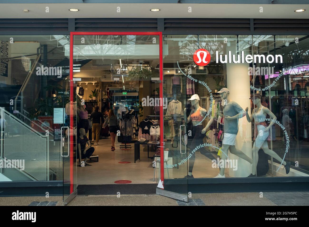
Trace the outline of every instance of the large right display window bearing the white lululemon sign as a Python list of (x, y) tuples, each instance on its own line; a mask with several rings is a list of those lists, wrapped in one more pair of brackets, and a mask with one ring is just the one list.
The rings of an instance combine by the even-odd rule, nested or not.
[[(307, 36), (163, 35), (163, 42), (163, 96), (184, 113), (178, 129), (172, 117), (164, 122), (170, 178), (309, 176)], [(186, 154), (174, 144), (185, 144), (182, 134)]]

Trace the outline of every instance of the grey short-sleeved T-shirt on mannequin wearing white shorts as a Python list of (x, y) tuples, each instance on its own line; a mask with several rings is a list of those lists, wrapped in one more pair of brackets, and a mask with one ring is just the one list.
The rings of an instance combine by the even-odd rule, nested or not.
[[(227, 103), (223, 108), (223, 115), (233, 117), (239, 113), (244, 112), (243, 108), (238, 103), (232, 101)], [(235, 120), (224, 119), (224, 133), (237, 134), (238, 133), (238, 118)]]

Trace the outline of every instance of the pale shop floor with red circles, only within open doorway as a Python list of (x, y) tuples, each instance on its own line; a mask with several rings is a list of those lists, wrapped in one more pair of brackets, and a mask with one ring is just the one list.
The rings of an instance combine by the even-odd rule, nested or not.
[[(117, 137), (116, 137), (117, 140)], [(110, 137), (99, 140), (93, 154), (99, 155), (99, 162), (89, 163), (91, 166), (77, 167), (78, 184), (114, 184), (117, 180), (129, 180), (132, 184), (156, 183), (153, 181), (153, 160), (147, 158), (147, 150), (141, 149), (141, 159), (134, 163), (134, 144), (131, 149), (119, 149), (121, 143), (115, 143), (115, 151), (111, 151)], [(150, 152), (149, 156), (155, 153)], [(121, 164), (119, 162), (130, 162)]]

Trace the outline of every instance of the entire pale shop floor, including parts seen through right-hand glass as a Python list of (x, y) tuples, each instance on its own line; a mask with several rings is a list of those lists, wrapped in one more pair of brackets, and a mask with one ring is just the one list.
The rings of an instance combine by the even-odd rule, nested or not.
[[(116, 137), (117, 141), (117, 137)], [(99, 140), (99, 145), (93, 145), (95, 155), (99, 155), (99, 162), (90, 163), (91, 166), (77, 167), (77, 182), (78, 185), (83, 184), (114, 184), (117, 180), (129, 180), (132, 184), (139, 183), (157, 183), (159, 173), (154, 177), (153, 160), (147, 158), (147, 147), (140, 145), (140, 160), (134, 163), (134, 144), (131, 149), (119, 149), (121, 143), (116, 142), (115, 151), (111, 151), (110, 137)], [(149, 152), (152, 157), (155, 153)], [(119, 162), (130, 162), (121, 164)], [(212, 168), (211, 159), (196, 152), (196, 161), (194, 164), (194, 178), (214, 177), (219, 173), (218, 168)], [(158, 170), (158, 168), (156, 168)], [(168, 173), (170, 178), (183, 178), (187, 175), (187, 162), (179, 166), (179, 168), (169, 168)], [(167, 177), (167, 169), (165, 168), (165, 178)], [(228, 171), (226, 173), (228, 177)]]

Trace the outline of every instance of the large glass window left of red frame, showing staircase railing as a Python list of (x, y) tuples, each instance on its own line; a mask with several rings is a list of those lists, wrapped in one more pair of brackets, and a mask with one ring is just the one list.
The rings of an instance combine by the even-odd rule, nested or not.
[(70, 37), (0, 36), (0, 40), (0, 182), (61, 182), (70, 137), (63, 130), (66, 141), (61, 143), (61, 128), (75, 117), (67, 106), (71, 86), (65, 46)]

